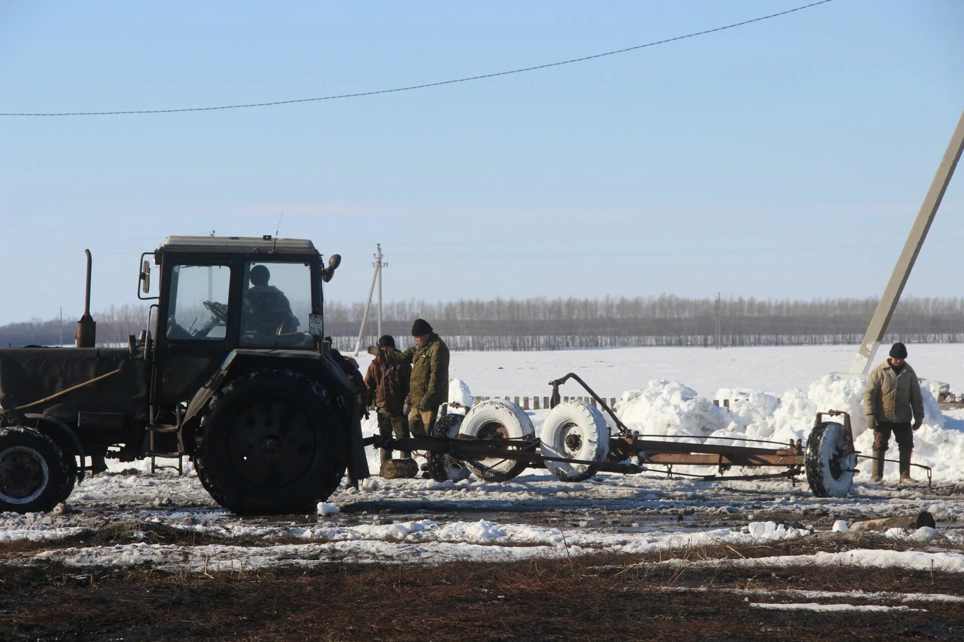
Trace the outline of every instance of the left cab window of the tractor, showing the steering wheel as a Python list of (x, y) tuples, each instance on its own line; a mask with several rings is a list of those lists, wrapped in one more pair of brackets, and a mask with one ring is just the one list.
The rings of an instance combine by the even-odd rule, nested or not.
[(168, 339), (221, 341), (228, 321), (228, 266), (174, 266)]

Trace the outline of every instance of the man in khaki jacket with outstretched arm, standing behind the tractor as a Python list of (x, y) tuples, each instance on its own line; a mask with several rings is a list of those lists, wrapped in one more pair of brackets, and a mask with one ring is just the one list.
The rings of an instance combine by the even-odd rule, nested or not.
[[(404, 352), (383, 352), (381, 358), (389, 366), (412, 364), (409, 429), (414, 435), (428, 435), (439, 406), (448, 398), (448, 347), (424, 319), (415, 320), (412, 336), (415, 346)], [(369, 346), (368, 353), (378, 354), (378, 347)]]

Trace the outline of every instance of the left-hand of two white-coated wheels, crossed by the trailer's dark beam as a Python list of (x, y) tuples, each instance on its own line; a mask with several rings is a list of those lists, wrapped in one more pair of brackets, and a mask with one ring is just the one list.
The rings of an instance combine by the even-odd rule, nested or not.
[[(529, 439), (535, 444), (536, 431), (532, 420), (517, 404), (505, 399), (489, 399), (472, 406), (462, 421), (460, 434), (475, 439)], [(527, 461), (515, 459), (469, 460), (473, 475), (483, 481), (508, 481), (522, 473)]]

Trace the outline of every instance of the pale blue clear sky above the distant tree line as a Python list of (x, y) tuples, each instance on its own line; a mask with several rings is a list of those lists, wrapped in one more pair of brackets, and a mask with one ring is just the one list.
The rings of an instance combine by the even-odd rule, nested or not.
[[(806, 4), (0, 1), (0, 112), (383, 90)], [(442, 87), (0, 117), (0, 324), (136, 302), (167, 235), (308, 238), (326, 295), (879, 295), (964, 108), (964, 3), (834, 0)], [(964, 176), (906, 295), (961, 295)]]

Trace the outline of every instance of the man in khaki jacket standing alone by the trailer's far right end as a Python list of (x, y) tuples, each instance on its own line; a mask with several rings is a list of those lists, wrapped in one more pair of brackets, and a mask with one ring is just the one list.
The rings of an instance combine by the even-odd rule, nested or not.
[(878, 483), (884, 476), (884, 453), (891, 432), (900, 450), (900, 483), (914, 483), (910, 476), (910, 453), (914, 449), (913, 431), (924, 424), (924, 398), (917, 373), (906, 359), (907, 347), (894, 344), (890, 358), (874, 368), (867, 380), (864, 414), (867, 415), (867, 425), (873, 430), (871, 483)]

